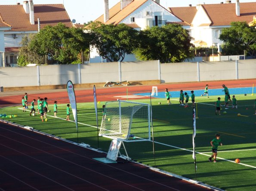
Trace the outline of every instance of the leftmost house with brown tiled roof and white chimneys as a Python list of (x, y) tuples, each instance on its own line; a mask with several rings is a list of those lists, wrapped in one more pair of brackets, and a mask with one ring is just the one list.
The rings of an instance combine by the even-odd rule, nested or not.
[(58, 23), (73, 27), (62, 4), (34, 5), (30, 0), (23, 4), (0, 5), (0, 67), (17, 64), (22, 37)]

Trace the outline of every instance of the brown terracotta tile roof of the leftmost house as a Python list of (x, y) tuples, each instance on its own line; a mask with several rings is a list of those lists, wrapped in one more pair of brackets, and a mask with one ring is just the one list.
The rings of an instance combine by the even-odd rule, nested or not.
[(34, 4), (35, 24), (30, 23), (29, 14), (25, 13), (23, 5), (0, 5), (0, 14), (1, 21), (12, 27), (10, 31), (37, 31), (37, 18), (40, 18), (41, 29), (46, 25), (55, 26), (60, 22), (67, 27), (73, 27), (62, 4)]

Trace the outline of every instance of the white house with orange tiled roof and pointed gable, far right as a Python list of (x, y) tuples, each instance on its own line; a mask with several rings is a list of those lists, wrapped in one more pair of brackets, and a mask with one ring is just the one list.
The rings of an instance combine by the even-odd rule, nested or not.
[(248, 24), (253, 21), (256, 15), (256, 2), (240, 3), (236, 0), (231, 3), (200, 4), (188, 7), (171, 7), (170, 12), (182, 20), (182, 26), (190, 31), (194, 38), (195, 46), (212, 47), (220, 50), (223, 44), (219, 35), (223, 28), (230, 27), (231, 22), (246, 21)]

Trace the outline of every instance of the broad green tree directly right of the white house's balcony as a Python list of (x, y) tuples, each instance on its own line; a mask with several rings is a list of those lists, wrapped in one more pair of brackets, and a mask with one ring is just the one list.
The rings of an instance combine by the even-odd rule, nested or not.
[(160, 60), (161, 63), (182, 62), (193, 57), (193, 39), (179, 24), (151, 27), (140, 31), (139, 48), (134, 51), (139, 60)]

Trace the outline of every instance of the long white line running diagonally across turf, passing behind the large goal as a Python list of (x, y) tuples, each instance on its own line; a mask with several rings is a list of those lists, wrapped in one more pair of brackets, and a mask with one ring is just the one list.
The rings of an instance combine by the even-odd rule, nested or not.
[[(18, 108), (20, 110), (22, 110), (22, 108)], [(47, 115), (47, 116), (50, 116), (50, 115)], [(60, 117), (54, 117), (54, 116), (51, 116), (53, 118), (57, 118), (57, 119), (62, 119), (62, 120), (66, 120), (66, 119), (63, 119), (63, 118), (60, 118)], [(74, 122), (74, 121), (69, 121), (69, 122)], [(84, 123), (81, 123), (81, 122), (77, 122), (81, 125), (86, 125), (86, 126), (90, 126), (90, 127), (94, 127), (94, 128), (98, 128), (96, 126), (93, 126), (93, 125), (87, 125), (87, 124), (84, 124)], [(142, 139), (142, 138), (141, 138)], [(153, 142), (152, 140), (149, 140), (150, 142)], [(189, 151), (189, 152), (193, 152), (192, 150), (188, 150), (188, 149), (183, 149), (181, 147), (178, 147), (178, 146), (172, 146), (172, 145), (168, 145), (168, 144), (165, 144), (165, 143), (160, 143), (160, 142), (157, 142), (157, 141), (154, 141), (154, 143), (157, 143), (157, 144), (160, 144), (160, 145), (164, 145), (164, 146), (169, 146), (169, 147), (173, 147), (173, 148), (176, 148), (176, 149), (181, 149), (181, 150), (184, 150), (184, 151)], [(235, 150), (234, 150), (235, 151)], [(218, 151), (218, 152), (221, 152), (221, 151)], [(200, 155), (205, 155), (205, 156), (211, 156), (211, 155), (207, 155), (205, 154), (206, 152), (196, 152), (197, 154), (200, 154)], [(235, 161), (231, 161), (231, 160), (228, 160), (228, 159), (225, 159), (225, 158), (220, 158), (220, 157), (217, 157), (221, 160), (224, 160), (224, 161), (228, 161), (228, 162), (233, 162), (233, 163), (236, 163)], [(246, 166), (246, 167), (252, 167), (252, 168), (256, 168), (255, 166), (252, 166), (252, 165), (248, 165), (248, 164), (244, 164), (244, 163), (237, 163), (237, 164), (241, 164), (243, 166)]]

